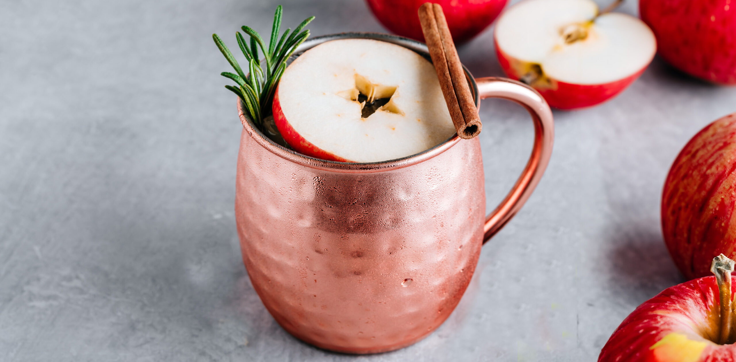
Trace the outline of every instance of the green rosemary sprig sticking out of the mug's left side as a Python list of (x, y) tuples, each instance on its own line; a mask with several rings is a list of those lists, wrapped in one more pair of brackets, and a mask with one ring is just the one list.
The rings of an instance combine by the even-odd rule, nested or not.
[[(217, 48), (220, 49), (227, 62), (236, 71), (236, 73), (221, 73), (222, 76), (232, 79), (238, 84), (238, 87), (226, 85), (225, 88), (231, 90), (243, 100), (250, 119), (258, 125), (261, 124), (263, 118), (271, 114), (271, 104), (273, 103), (276, 85), (283, 75), (283, 70), (286, 69), (286, 59), (289, 59), (294, 50), (304, 43), (304, 40), (307, 40), (309, 30), (302, 31), (302, 29), (314, 20), (314, 16), (306, 18), (294, 29), (294, 32), (291, 32), (291, 35), (289, 35), (291, 29), (286, 29), (286, 32), (283, 32), (283, 35), (279, 37), (281, 13), (282, 8), (279, 5), (276, 7), (271, 37), (267, 47), (261, 35), (258, 35), (258, 32), (248, 26), (243, 26), (241, 29), (250, 36), (250, 43), (245, 41), (245, 37), (241, 32), (236, 32), (238, 46), (248, 62), (245, 68), (241, 68), (238, 61), (233, 57), (233, 53), (222, 42), (222, 39), (216, 34), (212, 35)], [(258, 57), (258, 48), (261, 48), (263, 52), (263, 60)], [(263, 63), (266, 66), (265, 70), (262, 68)], [(248, 73), (245, 74), (243, 70), (247, 70)]]

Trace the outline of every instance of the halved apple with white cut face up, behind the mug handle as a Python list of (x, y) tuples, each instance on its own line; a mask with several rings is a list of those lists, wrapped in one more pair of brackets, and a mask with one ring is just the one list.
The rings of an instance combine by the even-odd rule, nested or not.
[(600, 104), (634, 82), (654, 58), (654, 33), (633, 16), (598, 13), (591, 0), (525, 0), (495, 28), (498, 61), (550, 106)]

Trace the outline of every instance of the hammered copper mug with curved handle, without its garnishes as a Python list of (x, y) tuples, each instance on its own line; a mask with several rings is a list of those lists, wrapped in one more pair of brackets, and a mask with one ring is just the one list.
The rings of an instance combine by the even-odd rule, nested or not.
[[(368, 38), (427, 47), (393, 35)], [(263, 305), (291, 335), (326, 350), (375, 353), (406, 347), (450, 316), (481, 246), (527, 200), (552, 152), (553, 120), (541, 95), (503, 78), (467, 81), (478, 98), (505, 98), (534, 120), (534, 148), (509, 195), (485, 217), (478, 137), (457, 134), (403, 159), (344, 163), (277, 145), (238, 110), (236, 220), (243, 261)], [(485, 221), (484, 221), (485, 220)]]

